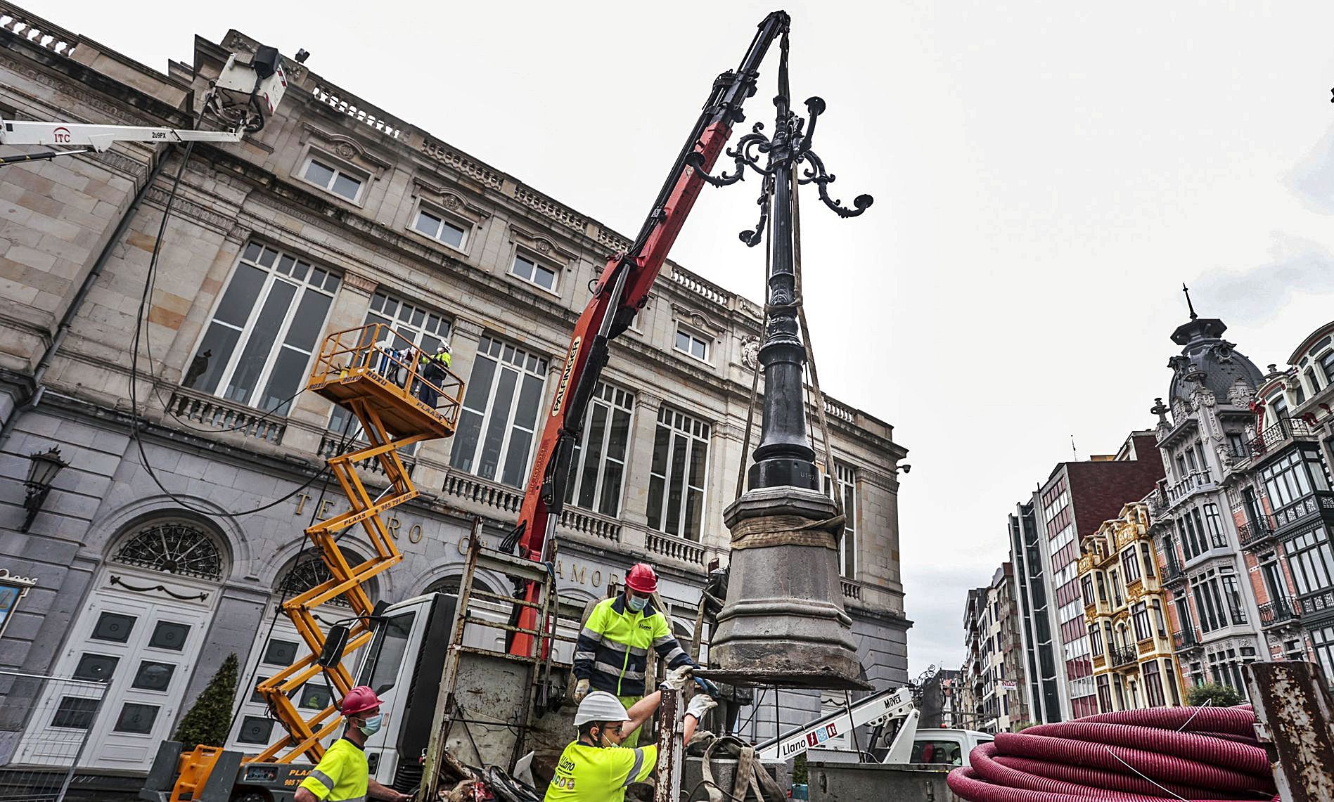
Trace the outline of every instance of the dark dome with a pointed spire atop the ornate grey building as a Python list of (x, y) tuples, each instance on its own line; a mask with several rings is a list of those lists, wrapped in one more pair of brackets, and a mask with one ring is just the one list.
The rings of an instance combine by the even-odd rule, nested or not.
[(1187, 402), (1197, 387), (1205, 387), (1219, 403), (1245, 406), (1263, 380), (1263, 374), (1255, 363), (1247, 359), (1237, 346), (1223, 339), (1227, 326), (1218, 318), (1201, 318), (1186, 292), (1186, 306), (1190, 320), (1178, 326), (1171, 334), (1171, 342), (1181, 346), (1181, 355), (1167, 360), (1173, 370), (1167, 399), (1177, 408), (1177, 402)]

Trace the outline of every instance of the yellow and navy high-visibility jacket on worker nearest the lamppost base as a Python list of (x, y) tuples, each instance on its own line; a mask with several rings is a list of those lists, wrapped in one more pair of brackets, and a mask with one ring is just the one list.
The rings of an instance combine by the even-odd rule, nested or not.
[(667, 661), (668, 669), (695, 666), (652, 602), (635, 613), (626, 607), (624, 595), (603, 599), (579, 633), (575, 677), (587, 679), (594, 690), (642, 697), (650, 647)]

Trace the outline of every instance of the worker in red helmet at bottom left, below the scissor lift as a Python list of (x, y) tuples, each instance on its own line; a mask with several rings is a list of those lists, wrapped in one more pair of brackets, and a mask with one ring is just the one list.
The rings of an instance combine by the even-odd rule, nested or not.
[(400, 794), (370, 778), (366, 739), (379, 733), (384, 723), (380, 698), (374, 690), (360, 685), (347, 691), (339, 710), (347, 718), (347, 731), (328, 747), (324, 758), (301, 781), (301, 786), (292, 795), (293, 802), (364, 802), (367, 798), (408, 802), (411, 795)]

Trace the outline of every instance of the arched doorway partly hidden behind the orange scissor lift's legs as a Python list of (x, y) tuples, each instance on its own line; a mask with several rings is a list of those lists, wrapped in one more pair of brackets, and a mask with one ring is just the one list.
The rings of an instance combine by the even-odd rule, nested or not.
[[(364, 559), (346, 547), (343, 548), (343, 554), (352, 564), (360, 563)], [(332, 575), (324, 560), (309, 551), (303, 551), (279, 571), (273, 586), (272, 603), (268, 606), (268, 613), (255, 633), (255, 645), (251, 647), (249, 657), (241, 667), (241, 677), (236, 687), (239, 713), (232, 722), (232, 729), (227, 738), (228, 749), (255, 754), (275, 743), (285, 734), (277, 721), (269, 717), (268, 705), (265, 705), (263, 697), (255, 693), (255, 686), (308, 654), (305, 642), (296, 633), (292, 621), (279, 609), (280, 605), (331, 578)], [(374, 580), (367, 584), (367, 594), (370, 594), (372, 600), (378, 598), (379, 592)], [(352, 609), (343, 596), (336, 596), (316, 607), (312, 615), (328, 631), (329, 626), (335, 622), (352, 615)], [(360, 651), (351, 651), (343, 657), (343, 663), (355, 673), (359, 659)], [(329, 705), (332, 693), (323, 677), (315, 677), (293, 691), (291, 697), (296, 703), (296, 709), (303, 715), (309, 717)], [(329, 742), (336, 739), (338, 735), (335, 733), (329, 738)]]

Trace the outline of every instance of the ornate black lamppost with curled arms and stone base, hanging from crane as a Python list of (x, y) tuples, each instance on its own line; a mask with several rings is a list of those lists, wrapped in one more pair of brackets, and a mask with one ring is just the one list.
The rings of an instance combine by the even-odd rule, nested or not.
[[(759, 350), (764, 371), (760, 440), (747, 472), (747, 491), (724, 511), (732, 534), (731, 576), (710, 655), (719, 666), (715, 674), (739, 685), (868, 687), (851, 638), (852, 621), (842, 605), (838, 538), (843, 516), (820, 490), (807, 427), (794, 193), (800, 184), (815, 184), (820, 200), (842, 218), (860, 215), (872, 199), (859, 195), (854, 208), (847, 208), (830, 197), (834, 176), (811, 151), (824, 101), (807, 100), (804, 120), (791, 111), (786, 36), (774, 105), (772, 137), (756, 123), (727, 151), (735, 159), (735, 172), (704, 176), (722, 187), (742, 180), (747, 169), (759, 173), (760, 222), (740, 239), (755, 246), (766, 227), (771, 238)], [(699, 161), (694, 167), (700, 169)]]

